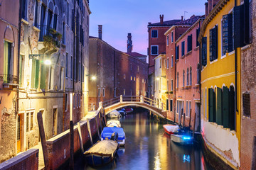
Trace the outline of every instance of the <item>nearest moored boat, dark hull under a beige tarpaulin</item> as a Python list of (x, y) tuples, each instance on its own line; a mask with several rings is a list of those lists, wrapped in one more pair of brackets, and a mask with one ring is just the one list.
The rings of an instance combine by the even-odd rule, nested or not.
[(113, 140), (102, 140), (84, 152), (87, 163), (91, 166), (101, 166), (112, 162), (117, 152), (118, 143)]

